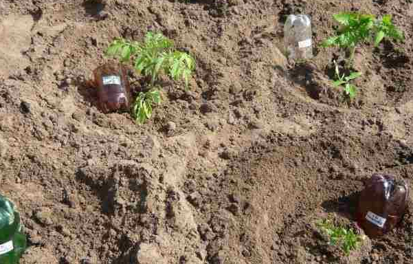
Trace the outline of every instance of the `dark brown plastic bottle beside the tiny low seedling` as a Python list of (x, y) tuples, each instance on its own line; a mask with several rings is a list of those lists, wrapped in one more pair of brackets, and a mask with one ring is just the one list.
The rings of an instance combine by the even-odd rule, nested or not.
[(361, 191), (357, 223), (372, 238), (386, 234), (399, 223), (408, 200), (408, 186), (391, 175), (374, 174)]

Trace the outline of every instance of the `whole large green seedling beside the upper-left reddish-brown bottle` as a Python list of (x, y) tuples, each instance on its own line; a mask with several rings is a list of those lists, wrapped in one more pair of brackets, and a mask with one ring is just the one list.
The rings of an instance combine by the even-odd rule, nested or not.
[(133, 61), (135, 70), (150, 78), (148, 91), (139, 93), (132, 108), (132, 114), (139, 124), (150, 118), (153, 104), (161, 102), (157, 88), (161, 74), (167, 74), (173, 80), (184, 80), (188, 88), (195, 67), (194, 58), (186, 52), (174, 50), (173, 46), (173, 42), (163, 34), (148, 32), (144, 43), (115, 39), (107, 49), (107, 55), (119, 58), (122, 63)]

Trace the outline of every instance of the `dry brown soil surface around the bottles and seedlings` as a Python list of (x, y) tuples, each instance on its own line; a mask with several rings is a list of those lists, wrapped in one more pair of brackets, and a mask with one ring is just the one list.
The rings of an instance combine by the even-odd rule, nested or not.
[[(406, 34), (361, 45), (350, 104), (328, 78), (338, 50), (317, 47), (345, 10)], [(316, 45), (295, 67), (279, 50), (291, 12)], [(412, 21), (408, 0), (0, 0), (0, 191), (23, 217), (21, 263), (413, 263), (411, 210), (350, 256), (315, 226), (352, 226), (372, 173), (413, 187)], [(197, 69), (137, 126), (82, 83), (113, 38), (147, 30)]]

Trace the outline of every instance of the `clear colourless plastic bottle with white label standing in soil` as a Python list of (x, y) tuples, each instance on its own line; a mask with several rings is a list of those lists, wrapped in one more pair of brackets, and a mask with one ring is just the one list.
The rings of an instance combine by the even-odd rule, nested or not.
[(311, 38), (311, 19), (305, 14), (290, 14), (284, 24), (284, 47), (288, 58), (313, 58)]

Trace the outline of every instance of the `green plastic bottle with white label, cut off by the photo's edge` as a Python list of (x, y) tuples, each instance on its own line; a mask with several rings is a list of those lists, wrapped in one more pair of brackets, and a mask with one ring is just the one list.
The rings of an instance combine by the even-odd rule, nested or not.
[(19, 212), (14, 210), (14, 204), (9, 199), (0, 195), (0, 263), (19, 263), (26, 246)]

